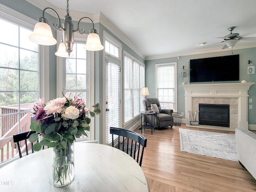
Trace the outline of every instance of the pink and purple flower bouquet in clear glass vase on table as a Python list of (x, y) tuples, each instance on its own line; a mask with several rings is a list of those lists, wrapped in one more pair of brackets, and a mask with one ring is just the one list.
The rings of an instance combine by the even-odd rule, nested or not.
[(30, 142), (40, 142), (33, 145), (34, 151), (39, 151), (42, 146), (53, 148), (53, 173), (54, 186), (65, 186), (74, 180), (74, 141), (75, 138), (90, 131), (90, 116), (100, 114), (100, 104), (95, 104), (94, 110), (86, 108), (83, 98), (71, 93), (63, 94), (64, 97), (56, 98), (45, 103), (44, 98), (39, 99), (33, 107), (30, 129), (36, 131), (29, 138)]

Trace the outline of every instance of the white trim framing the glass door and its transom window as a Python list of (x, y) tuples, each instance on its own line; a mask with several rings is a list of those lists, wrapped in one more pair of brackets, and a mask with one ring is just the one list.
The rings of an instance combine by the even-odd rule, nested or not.
[[(102, 64), (103, 64), (103, 66), (102, 66), (102, 68), (103, 68), (103, 72), (102, 72), (102, 84), (103, 84), (103, 86), (102, 86), (102, 93), (103, 93), (103, 106), (101, 107), (102, 109), (106, 109), (107, 108), (107, 106), (106, 106), (106, 103), (105, 103), (105, 99), (106, 99), (106, 94), (105, 94), (105, 87), (104, 87), (104, 85), (105, 85), (105, 80), (106, 80), (106, 61), (112, 61), (112, 62), (117, 62), (118, 61), (118, 64), (120, 64), (120, 68), (121, 68), (121, 74), (120, 74), (120, 86), (121, 86), (121, 92), (120, 92), (120, 98), (121, 98), (121, 103), (122, 103), (122, 90), (123, 90), (123, 83), (122, 83), (122, 54), (121, 54), (121, 52), (122, 52), (122, 44), (118, 41), (118, 40), (116, 40), (115, 38), (113, 38), (110, 34), (108, 34), (106, 31), (104, 31), (103, 30), (103, 46), (105, 47), (105, 41), (106, 40), (108, 40), (108, 41), (110, 41), (110, 42), (113, 42), (114, 44), (116, 44), (116, 46), (118, 46), (119, 47), (119, 55), (120, 55), (120, 58), (116, 58), (115, 56), (112, 56), (112, 55), (110, 55), (110, 54), (108, 54), (107, 52), (105, 52), (105, 49), (103, 49), (103, 51), (102, 51), (102, 54), (103, 54), (103, 57), (102, 57)], [(105, 121), (105, 117), (106, 117), (106, 111), (105, 110), (102, 110), (102, 116), (103, 116), (103, 129), (102, 129), (102, 140), (103, 140), (103, 144), (107, 144), (106, 143), (106, 132), (105, 132), (105, 128), (106, 128), (106, 121)], [(120, 119), (120, 124), (122, 125), (122, 105), (120, 105), (120, 117), (121, 117), (121, 119)]]

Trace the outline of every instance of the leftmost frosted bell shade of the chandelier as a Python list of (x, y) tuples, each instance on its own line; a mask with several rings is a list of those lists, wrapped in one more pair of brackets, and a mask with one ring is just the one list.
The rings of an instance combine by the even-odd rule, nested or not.
[(56, 39), (52, 36), (50, 26), (44, 22), (38, 22), (35, 25), (34, 31), (28, 36), (28, 39), (40, 45), (55, 45), (57, 43)]

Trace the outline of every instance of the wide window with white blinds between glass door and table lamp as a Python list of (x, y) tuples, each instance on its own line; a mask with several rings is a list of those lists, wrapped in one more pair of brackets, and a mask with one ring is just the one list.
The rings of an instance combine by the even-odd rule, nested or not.
[(144, 109), (140, 96), (145, 86), (145, 65), (124, 53), (124, 123), (129, 122)]

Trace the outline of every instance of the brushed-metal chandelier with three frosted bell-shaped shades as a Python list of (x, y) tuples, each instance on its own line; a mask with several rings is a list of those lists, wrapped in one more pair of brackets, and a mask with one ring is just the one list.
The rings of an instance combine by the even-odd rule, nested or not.
[(67, 0), (67, 15), (64, 17), (64, 23), (61, 26), (60, 17), (58, 13), (50, 8), (47, 7), (43, 10), (43, 16), (38, 18), (38, 23), (34, 27), (33, 33), (28, 37), (28, 39), (34, 43), (40, 45), (55, 45), (57, 43), (56, 39), (52, 35), (52, 30), (48, 24), (48, 20), (44, 18), (44, 12), (50, 9), (52, 10), (58, 17), (58, 24), (54, 23), (53, 27), (55, 30), (62, 30), (63, 31), (63, 39), (59, 45), (58, 51), (55, 53), (56, 56), (60, 57), (72, 57), (73, 44), (74, 44), (74, 32), (78, 32), (80, 34), (84, 34), (84, 29), (79, 29), (79, 23), (82, 19), (86, 18), (92, 22), (92, 29), (87, 37), (86, 45), (84, 46), (85, 50), (89, 51), (99, 51), (104, 49), (100, 42), (100, 37), (98, 36), (97, 30), (94, 29), (93, 21), (88, 17), (82, 17), (77, 24), (77, 29), (74, 29), (74, 25), (72, 23), (72, 18), (69, 16), (69, 5)]

